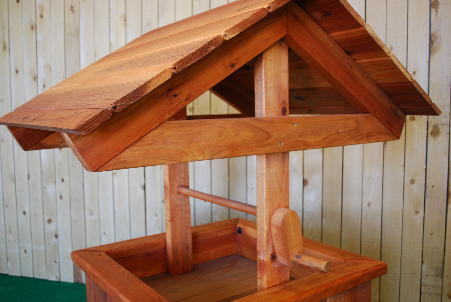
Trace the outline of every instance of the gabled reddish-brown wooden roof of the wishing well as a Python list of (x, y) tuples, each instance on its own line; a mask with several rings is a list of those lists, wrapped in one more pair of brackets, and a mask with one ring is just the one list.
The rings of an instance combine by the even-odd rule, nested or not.
[[(176, 125), (166, 120), (209, 89), (243, 112), (239, 117), (254, 116), (253, 58), (280, 39), (291, 48), (292, 114), (355, 115), (354, 125), (373, 125), (360, 132), (388, 129), (396, 137), (405, 114), (440, 113), (345, 0), (238, 0), (144, 34), (3, 116), (0, 124), (9, 126), (25, 150), (69, 145), (90, 171), (206, 159), (193, 154), (170, 159), (180, 154), (163, 148), (155, 151), (158, 161), (131, 165), (124, 153), (139, 144), (142, 148), (148, 136), (158, 140), (161, 135), (152, 130), (160, 125), (161, 134), (161, 127)], [(336, 117), (316, 119), (331, 122)], [(224, 127), (244, 122), (229, 120), (221, 122)], [(376, 131), (377, 123), (384, 128)], [(366, 138), (360, 142), (376, 139), (354, 135)], [(221, 156), (237, 154), (248, 153)], [(115, 164), (119, 158), (121, 165)]]

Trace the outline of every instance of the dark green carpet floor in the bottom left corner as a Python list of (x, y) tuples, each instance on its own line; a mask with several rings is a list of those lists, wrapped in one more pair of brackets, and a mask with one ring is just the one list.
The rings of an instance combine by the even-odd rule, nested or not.
[(0, 274), (1, 302), (86, 302), (86, 286)]

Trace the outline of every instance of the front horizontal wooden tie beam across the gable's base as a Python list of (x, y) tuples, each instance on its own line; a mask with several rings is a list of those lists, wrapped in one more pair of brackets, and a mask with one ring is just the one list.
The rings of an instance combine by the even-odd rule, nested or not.
[(369, 114), (167, 121), (98, 171), (391, 139)]

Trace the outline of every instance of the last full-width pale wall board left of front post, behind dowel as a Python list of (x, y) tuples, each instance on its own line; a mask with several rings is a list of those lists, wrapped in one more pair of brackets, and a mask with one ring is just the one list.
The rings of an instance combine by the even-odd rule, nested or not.
[[(229, 197), (246, 202), (246, 157), (229, 158)], [(246, 218), (246, 213), (230, 209), (230, 218)]]

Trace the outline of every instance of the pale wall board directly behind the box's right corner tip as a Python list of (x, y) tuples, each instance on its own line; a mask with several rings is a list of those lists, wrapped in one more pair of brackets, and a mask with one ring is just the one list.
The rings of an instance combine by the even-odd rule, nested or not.
[[(387, 40), (387, 1), (367, 0), (365, 20)], [(364, 144), (362, 184), (362, 255), (381, 259), (383, 142)], [(380, 278), (371, 281), (371, 301), (379, 301)]]

